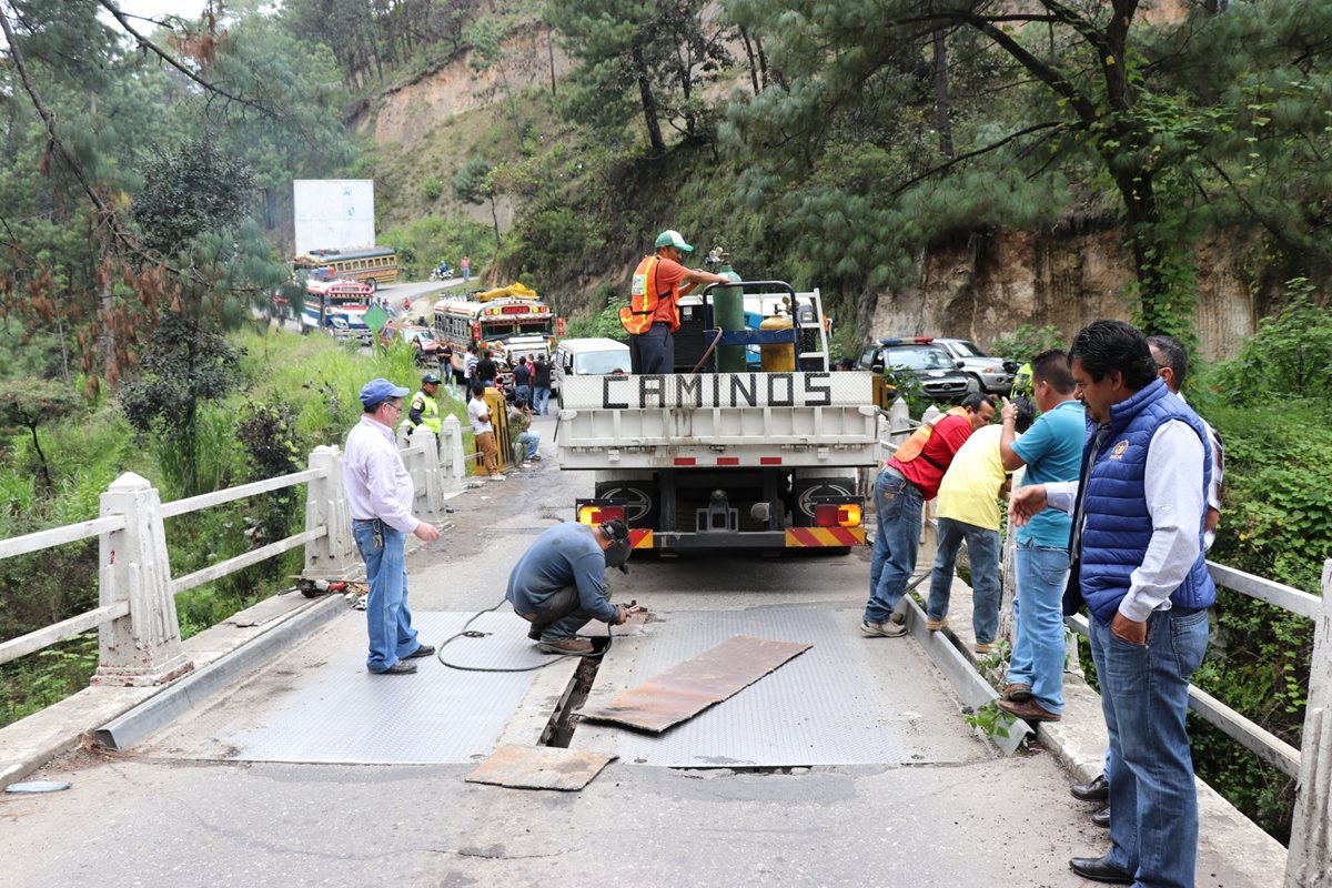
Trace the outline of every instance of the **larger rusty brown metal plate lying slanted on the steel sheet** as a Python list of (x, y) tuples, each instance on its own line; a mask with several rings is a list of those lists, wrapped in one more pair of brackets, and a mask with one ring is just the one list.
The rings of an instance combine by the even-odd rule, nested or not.
[(583, 710), (582, 718), (661, 734), (743, 691), (810, 647), (801, 642), (734, 635), (605, 706)]

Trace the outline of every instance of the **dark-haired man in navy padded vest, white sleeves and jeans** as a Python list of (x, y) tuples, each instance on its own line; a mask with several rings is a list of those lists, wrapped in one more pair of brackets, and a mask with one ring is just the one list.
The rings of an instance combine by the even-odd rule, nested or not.
[(1130, 325), (1087, 325), (1070, 358), (1090, 421), (1080, 481), (1023, 487), (1008, 506), (1018, 526), (1047, 505), (1072, 514), (1064, 610), (1091, 611), (1111, 847), (1068, 865), (1094, 881), (1192, 888), (1197, 791), (1184, 715), (1216, 600), (1203, 551), (1207, 430)]

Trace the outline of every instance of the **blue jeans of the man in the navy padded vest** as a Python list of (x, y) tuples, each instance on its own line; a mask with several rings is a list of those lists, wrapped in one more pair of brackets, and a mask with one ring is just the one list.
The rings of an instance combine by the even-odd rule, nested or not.
[(1091, 655), (1110, 734), (1110, 861), (1151, 888), (1192, 888), (1197, 789), (1184, 714), (1207, 652), (1207, 611), (1156, 611), (1147, 643), (1091, 624)]

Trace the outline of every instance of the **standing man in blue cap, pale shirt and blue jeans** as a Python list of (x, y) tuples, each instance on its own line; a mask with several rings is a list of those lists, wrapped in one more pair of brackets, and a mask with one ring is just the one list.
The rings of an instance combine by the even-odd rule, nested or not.
[(412, 660), (434, 654), (417, 640), (408, 607), (406, 535), (434, 542), (440, 531), (412, 515), (416, 489), (402, 465), (393, 426), (402, 417), (408, 389), (388, 379), (370, 379), (361, 387), (361, 422), (346, 435), (342, 481), (352, 513), (352, 534), (365, 560), (370, 594), (365, 622), (370, 654), (365, 667), (374, 675), (409, 675)]

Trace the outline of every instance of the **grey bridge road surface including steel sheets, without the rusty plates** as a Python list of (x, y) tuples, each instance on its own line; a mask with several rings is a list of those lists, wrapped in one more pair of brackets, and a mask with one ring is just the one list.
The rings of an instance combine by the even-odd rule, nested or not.
[[(546, 463), (454, 499), (441, 541), (409, 555), (425, 640), (494, 604), (522, 549), (583, 486), (590, 478)], [(368, 676), (364, 615), (314, 603), (325, 623), (141, 744), (79, 750), (33, 775), (71, 789), (0, 796), (4, 884), (1088, 884), (1067, 860), (1100, 853), (1107, 833), (1068, 795), (1059, 759), (1095, 760), (1091, 698), (1075, 700), (1067, 736), (1004, 756), (966, 726), (924, 647), (855, 631), (866, 560), (646, 558), (627, 578), (611, 574), (617, 599), (638, 599), (653, 620), (615, 642), (594, 694), (741, 628), (806, 632), (815, 647), (802, 658), (818, 656), (681, 726), (665, 738), (675, 748), (579, 726), (574, 748), (621, 759), (575, 793), (464, 781), (496, 746), (537, 743), (571, 662), (505, 694), (437, 662)], [(501, 634), (525, 628), (507, 616)], [(482, 650), (500, 654), (501, 642)], [(783, 747), (753, 764), (793, 738), (809, 755)], [(12, 731), (0, 742), (13, 747), (0, 750), (7, 759), (21, 746)], [(1280, 884), (1280, 847), (1235, 817), (1204, 805), (1197, 884)]]

